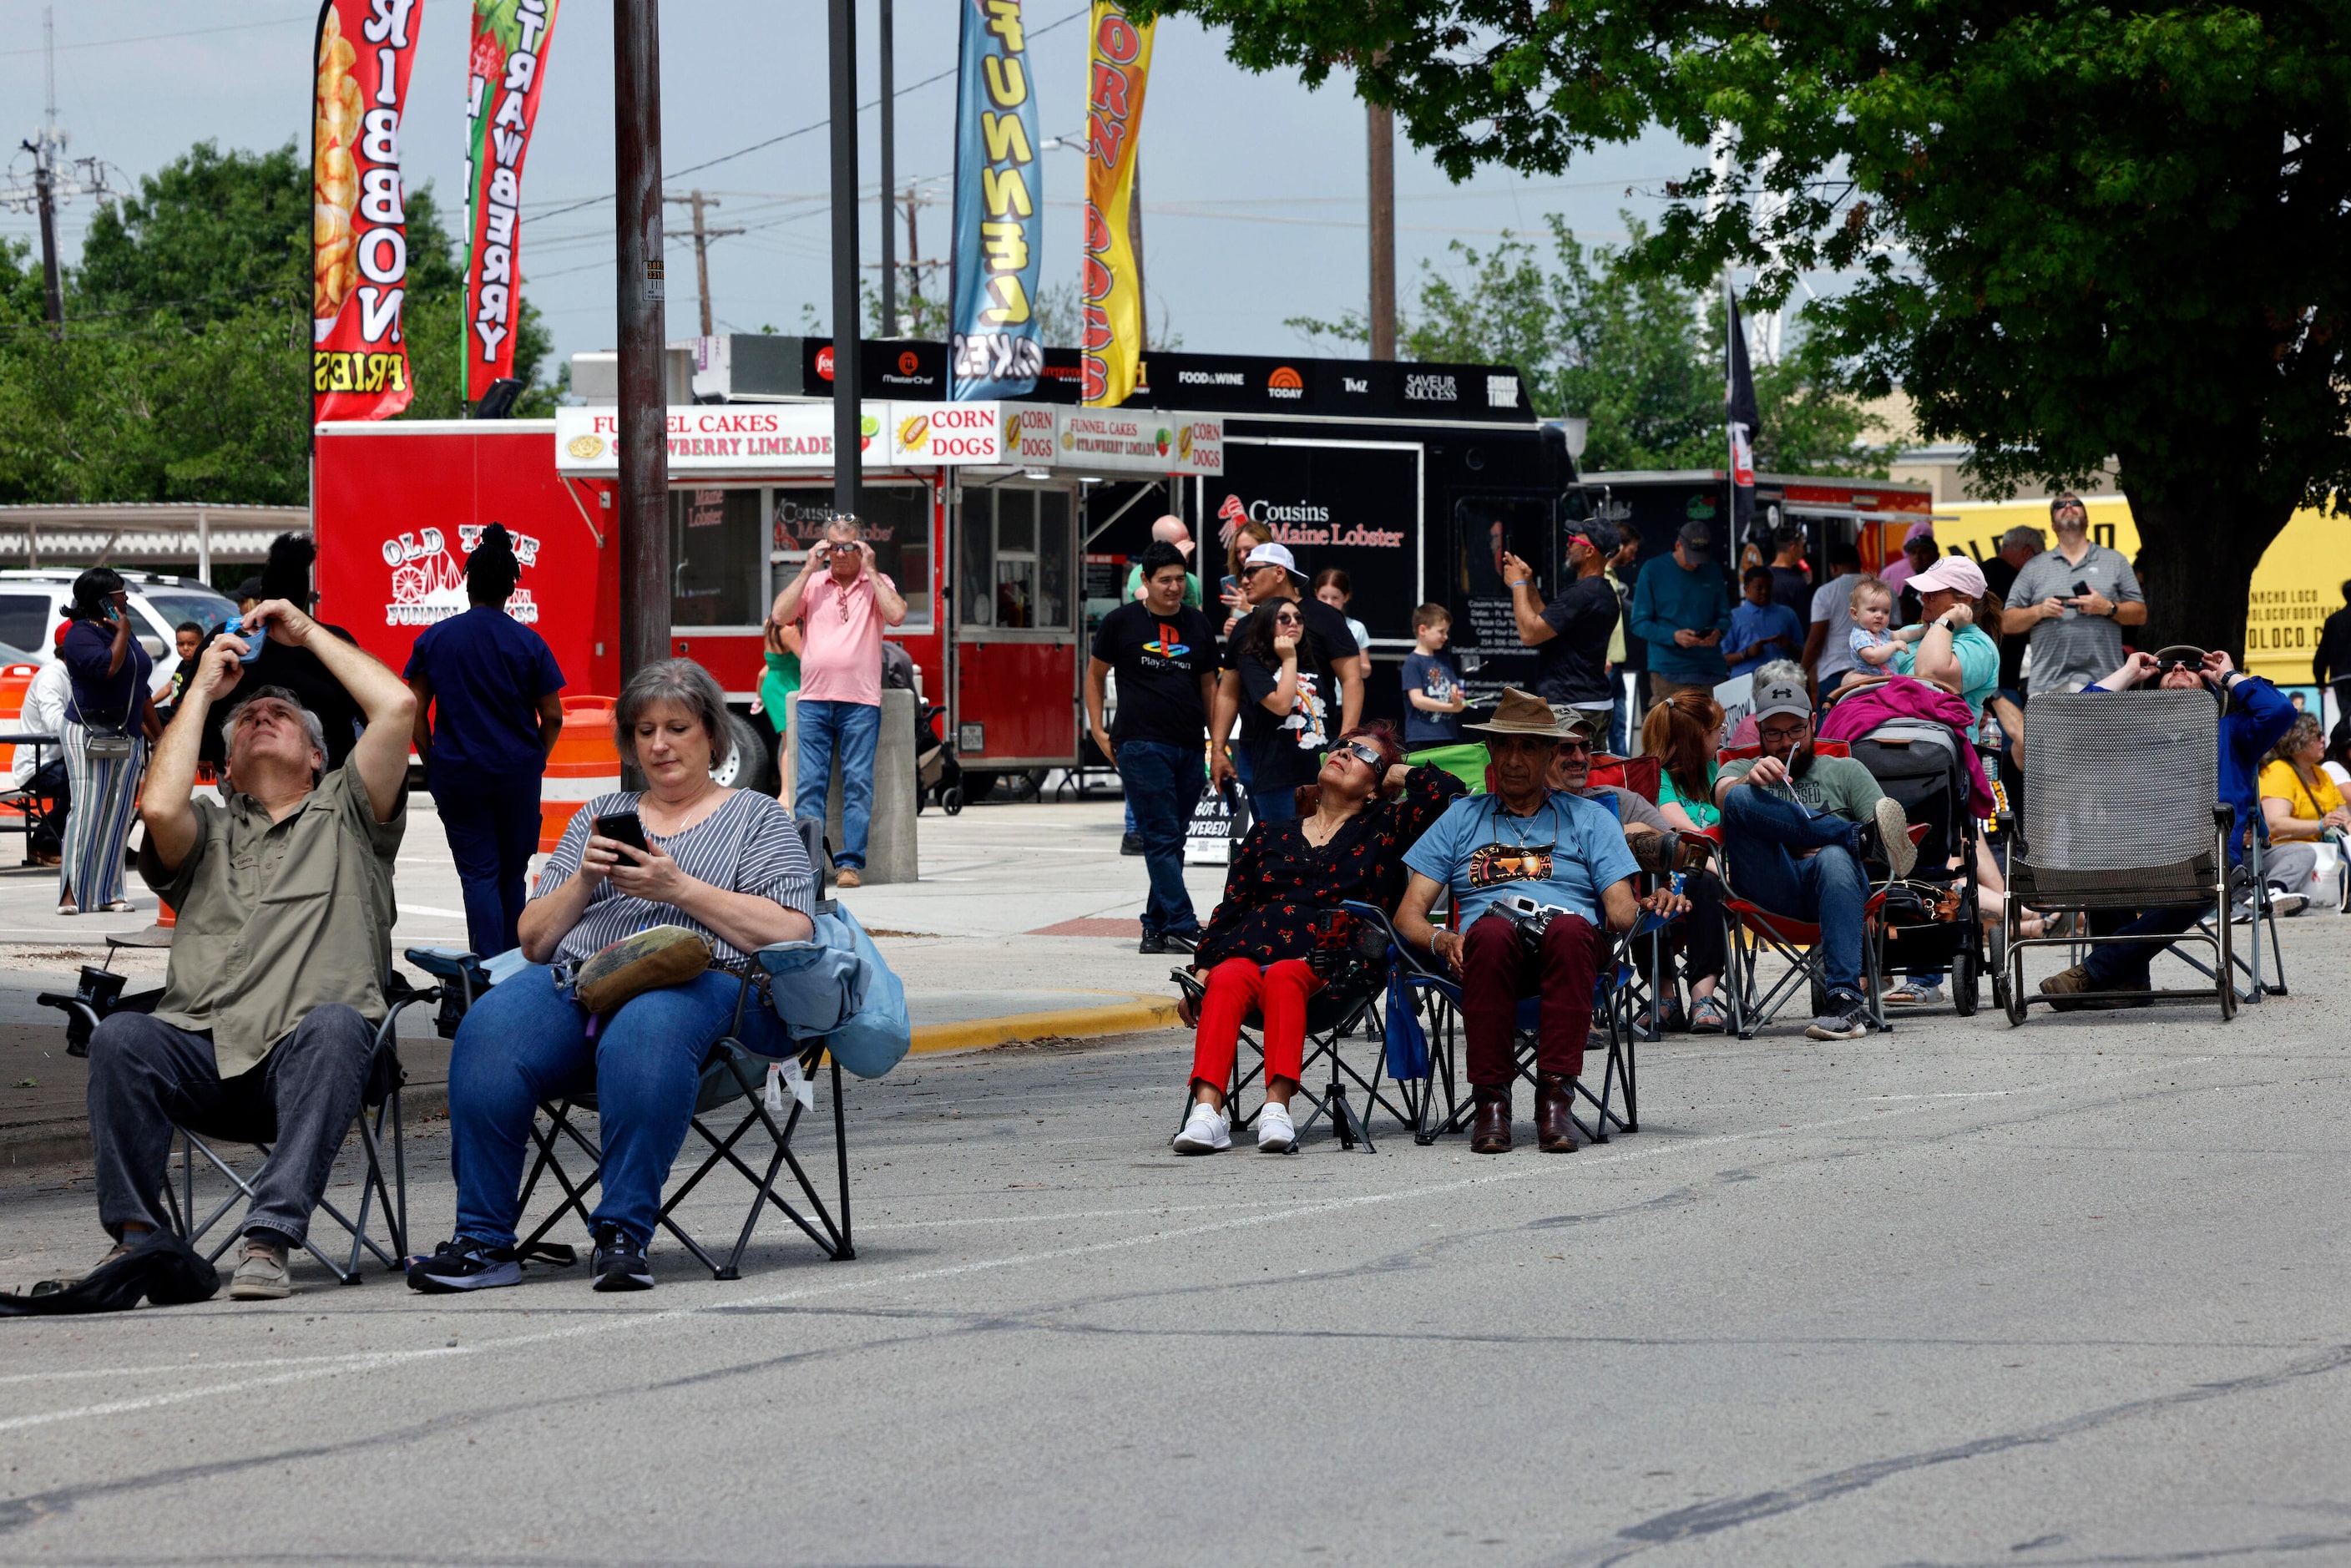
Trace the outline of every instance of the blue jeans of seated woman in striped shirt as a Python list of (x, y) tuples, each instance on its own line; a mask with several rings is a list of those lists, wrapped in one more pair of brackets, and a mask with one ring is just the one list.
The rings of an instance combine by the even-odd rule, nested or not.
[[(734, 1020), (741, 980), (710, 969), (644, 992), (595, 1041), (588, 1013), (555, 990), (545, 964), (510, 976), (465, 1013), (449, 1051), (449, 1138), (456, 1234), (513, 1246), (522, 1218), (522, 1154), (541, 1100), (592, 1088), (604, 1140), (592, 1225), (654, 1239), (661, 1182), (686, 1143), (703, 1056)], [(785, 1056), (792, 1044), (757, 997), (743, 1009), (745, 1048)]]

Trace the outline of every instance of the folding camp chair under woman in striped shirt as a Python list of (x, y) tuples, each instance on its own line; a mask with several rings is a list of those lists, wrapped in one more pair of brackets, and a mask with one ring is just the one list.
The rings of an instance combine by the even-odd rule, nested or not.
[[(823, 867), (823, 825), (813, 818), (799, 818), (797, 827), (802, 846), (809, 851), (809, 863), (813, 867)], [(830, 914), (832, 900), (820, 898), (816, 903), (816, 912)], [(809, 1178), (806, 1166), (799, 1164), (799, 1154), (792, 1152), (792, 1138), (799, 1131), (802, 1114), (813, 1110), (816, 1095), (811, 1079), (816, 1077), (818, 1065), (828, 1058), (825, 1041), (797, 1041), (799, 1051), (792, 1058), (766, 1058), (743, 1046), (743, 1011), (750, 1006), (755, 976), (762, 971), (759, 957), (762, 954), (755, 952), (752, 964), (743, 971), (743, 983), (736, 990), (731, 1025), (724, 1034), (712, 1039), (703, 1053), (701, 1086), (696, 1088), (694, 1117), (686, 1126), (710, 1147), (710, 1152), (668, 1192), (658, 1213), (661, 1227), (677, 1237), (677, 1241), (694, 1253), (705, 1269), (710, 1269), (712, 1279), (743, 1276), (743, 1253), (750, 1248), (750, 1239), (769, 1208), (776, 1208), (783, 1218), (797, 1225), (825, 1258), (837, 1262), (856, 1258), (849, 1227), (849, 1126), (842, 1100), (842, 1065), (837, 1060), (830, 1063), (832, 1164), (839, 1185), (835, 1201), (828, 1206), (825, 1197)], [(409, 961), (442, 980), (442, 1013), (435, 1023), (444, 1034), (456, 1034), (456, 1025), (463, 1023), (465, 1009), (494, 983), (491, 966), (470, 952), (411, 947)], [(762, 1001), (762, 1006), (766, 1004)], [(712, 1117), (736, 1103), (743, 1105), (743, 1112), (736, 1117), (734, 1126), (712, 1126)], [(543, 1218), (536, 1229), (531, 1229), (515, 1246), (517, 1253), (555, 1251), (557, 1255), (564, 1255), (564, 1248), (545, 1246), (548, 1232), (552, 1232), (567, 1213), (578, 1215), (583, 1227), (588, 1225), (588, 1192), (595, 1187), (597, 1175), (604, 1168), (604, 1150), (597, 1138), (581, 1126), (578, 1112), (592, 1114), (595, 1110), (597, 1100), (592, 1088), (541, 1100), (538, 1112), (545, 1117), (545, 1124), (536, 1117), (531, 1119), (531, 1143), (536, 1147), (536, 1157), (522, 1182), (522, 1208), (529, 1208), (531, 1194), (538, 1190), (538, 1180), (543, 1175), (562, 1190), (562, 1201), (555, 1206), (555, 1213)], [(736, 1147), (755, 1126), (766, 1133), (771, 1145), (764, 1171), (755, 1171)], [(585, 1161), (585, 1171), (578, 1178), (574, 1178), (564, 1166), (567, 1154), (576, 1154)], [(743, 1215), (743, 1225), (736, 1232), (734, 1246), (726, 1251), (724, 1260), (719, 1260), (710, 1246), (703, 1246), (703, 1241), (698, 1241), (677, 1218), (677, 1206), (694, 1197), (694, 1192), (703, 1185), (703, 1178), (722, 1164), (731, 1166), (752, 1185), (750, 1211)], [(799, 1197), (806, 1204), (806, 1213), (795, 1208), (792, 1201), (776, 1190), (783, 1171), (792, 1173)]]

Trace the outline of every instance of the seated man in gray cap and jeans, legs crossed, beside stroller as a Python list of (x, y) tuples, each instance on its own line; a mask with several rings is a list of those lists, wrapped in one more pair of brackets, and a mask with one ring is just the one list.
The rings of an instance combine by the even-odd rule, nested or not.
[(1907, 877), (1918, 858), (1909, 820), (1853, 757), (1813, 752), (1813, 698), (1799, 682), (1756, 682), (1761, 757), (1723, 764), (1714, 804), (1723, 811), (1723, 858), (1740, 898), (1820, 926), (1829, 1009), (1810, 1039), (1860, 1039), (1862, 919), (1869, 905), (1864, 860)]

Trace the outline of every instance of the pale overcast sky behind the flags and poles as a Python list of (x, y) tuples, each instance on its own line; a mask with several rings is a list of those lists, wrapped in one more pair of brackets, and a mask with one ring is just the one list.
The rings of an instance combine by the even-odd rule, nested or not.
[[(40, 122), (38, 0), (0, 0), (0, 132), (7, 146)], [(463, 200), (465, 0), (423, 0), (402, 132), (404, 174), (433, 183), (456, 223)], [(1084, 129), (1084, 0), (1030, 0), (1039, 132)], [(825, 7), (818, 0), (670, 0), (661, 7), (665, 186), (703, 188), (712, 223), (750, 233), (710, 249), (719, 331), (799, 329), (828, 320)], [(284, 0), (78, 0), (56, 7), (56, 108), (68, 155), (94, 155), (134, 179), (193, 141), (308, 148), (315, 5)], [(955, 165), (955, 7), (898, 5), (898, 186), (945, 200)], [(872, 101), (875, 0), (860, 5), (860, 101)], [(155, 38), (172, 35), (172, 38)], [(940, 80), (915, 87), (924, 78)], [(865, 193), (863, 259), (877, 254), (879, 113), (858, 118)], [(809, 129), (802, 129), (809, 127)], [(790, 134), (802, 132), (802, 134)], [(790, 134), (790, 136), (788, 136)], [(783, 141), (771, 141), (785, 136)], [(759, 150), (729, 158), (755, 143)], [(560, 355), (614, 341), (611, 275), (611, 0), (562, 0), (529, 165), (522, 270)], [(724, 162), (712, 162), (724, 160)], [(1046, 153), (1044, 277), (1077, 277), (1079, 153)], [(1620, 212), (1653, 219), (1662, 181), (1690, 169), (1672, 139), (1610, 148), (1559, 179), (1481, 174), (1453, 186), (1408, 143), (1396, 150), (1399, 294), (1408, 308), (1422, 259), (1448, 266), (1448, 240), (1491, 244), (1540, 233), (1566, 214), (1587, 240), (1622, 235)], [(19, 155), (14, 172), (24, 172)], [(710, 165), (691, 169), (689, 165)], [(1627, 193), (1629, 188), (1629, 193)], [(1286, 317), (1361, 308), (1364, 108), (1345, 78), (1307, 92), (1288, 75), (1232, 66), (1223, 38), (1159, 24), (1143, 122), (1145, 259), (1152, 334), (1190, 350), (1298, 353)], [(61, 214), (68, 263), (92, 202)], [(686, 209), (670, 209), (672, 339), (698, 331)], [(945, 207), (924, 207), (922, 254), (943, 256)], [(900, 254), (903, 216), (900, 216)], [(0, 214), (0, 235), (33, 240), (28, 214)], [(945, 287), (945, 270), (933, 292)]]

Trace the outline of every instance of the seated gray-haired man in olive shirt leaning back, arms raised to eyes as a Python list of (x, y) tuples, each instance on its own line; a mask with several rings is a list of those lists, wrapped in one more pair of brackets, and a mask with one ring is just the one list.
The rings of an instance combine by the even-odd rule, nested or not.
[(205, 651), (139, 802), (139, 872), (179, 910), (172, 969), (153, 1013), (113, 1013), (89, 1039), (89, 1135), (108, 1260), (162, 1225), (174, 1124), (270, 1143), (228, 1293), (273, 1300), (292, 1295), (287, 1255), (308, 1237), (374, 1060), (416, 698), (287, 599), (247, 621), (249, 637), (317, 654), (367, 729), (324, 773), (317, 715), (263, 686), (228, 715), (221, 802), (195, 799), (212, 705), (245, 679), (240, 637)]

